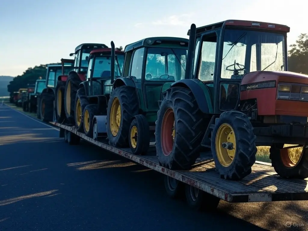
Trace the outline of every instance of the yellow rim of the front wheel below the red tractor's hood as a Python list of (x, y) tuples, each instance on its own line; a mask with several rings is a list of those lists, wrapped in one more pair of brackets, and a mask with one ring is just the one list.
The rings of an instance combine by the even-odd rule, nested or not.
[[(227, 148), (223, 148), (223, 144), (226, 143), (232, 143), (233, 149), (229, 150)], [(219, 163), (224, 167), (230, 166), (236, 153), (235, 133), (231, 125), (225, 123), (221, 124), (221, 126), (218, 128), (215, 139), (215, 148)]]

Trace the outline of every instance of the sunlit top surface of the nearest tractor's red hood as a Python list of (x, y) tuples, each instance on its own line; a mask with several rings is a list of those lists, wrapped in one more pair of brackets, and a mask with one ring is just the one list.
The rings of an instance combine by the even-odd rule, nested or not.
[(308, 84), (308, 75), (291, 71), (253, 71), (244, 75), (241, 85), (272, 82)]

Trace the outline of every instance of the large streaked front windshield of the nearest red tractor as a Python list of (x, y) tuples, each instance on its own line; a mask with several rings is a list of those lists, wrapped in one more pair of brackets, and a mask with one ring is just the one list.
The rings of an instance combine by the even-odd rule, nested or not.
[(226, 29), (221, 78), (237, 79), (252, 71), (285, 71), (283, 34)]

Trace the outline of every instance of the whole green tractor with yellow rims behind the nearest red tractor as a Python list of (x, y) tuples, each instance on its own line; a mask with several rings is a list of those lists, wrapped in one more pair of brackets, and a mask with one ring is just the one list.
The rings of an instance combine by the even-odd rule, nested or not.
[(114, 147), (145, 154), (155, 140), (158, 101), (184, 79), (188, 39), (155, 37), (125, 47), (122, 77), (116, 78), (107, 108), (107, 137)]

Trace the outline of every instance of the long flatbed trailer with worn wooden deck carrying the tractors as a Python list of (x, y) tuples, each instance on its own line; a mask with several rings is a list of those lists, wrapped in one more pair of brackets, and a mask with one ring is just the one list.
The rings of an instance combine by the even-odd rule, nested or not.
[(137, 156), (131, 153), (130, 148), (114, 148), (110, 146), (106, 138), (101, 140), (89, 138), (83, 133), (77, 132), (75, 126), (67, 126), (56, 122), (50, 123), (60, 128), (59, 137), (63, 138), (65, 134), (71, 137), (69, 138), (71, 140), (69, 141), (70, 144), (79, 144), (80, 139), (86, 140), (106, 151), (123, 156), (224, 201), (239, 203), (308, 200), (308, 178), (305, 180), (283, 179), (276, 174), (269, 163), (256, 161), (252, 167), (251, 174), (243, 180), (230, 181), (220, 178), (215, 170), (211, 154), (202, 153), (191, 170), (174, 171), (160, 166), (156, 157), (155, 143), (150, 144), (150, 149), (146, 156)]

